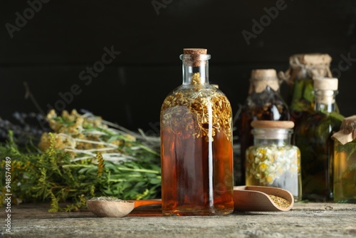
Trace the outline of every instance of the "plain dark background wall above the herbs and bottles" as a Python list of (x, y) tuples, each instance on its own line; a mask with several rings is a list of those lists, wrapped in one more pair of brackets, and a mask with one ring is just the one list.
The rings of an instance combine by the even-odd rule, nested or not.
[[(158, 14), (152, 2), (163, 4)], [(295, 53), (329, 53), (340, 79), (340, 112), (356, 114), (356, 1), (286, 0), (248, 45), (241, 31), (253, 32), (253, 19), (260, 21), (278, 2), (52, 0), (31, 16), (28, 1), (1, 0), (0, 116), (46, 113), (61, 100), (58, 93), (77, 84), (81, 93), (66, 110), (84, 108), (130, 130), (157, 133), (162, 101), (182, 83), (183, 48), (208, 49), (210, 82), (219, 84), (234, 112), (247, 96), (253, 68), (286, 71)], [(11, 38), (6, 24), (16, 26), (24, 11), (30, 17)], [(85, 85), (79, 73), (111, 46), (120, 55)]]

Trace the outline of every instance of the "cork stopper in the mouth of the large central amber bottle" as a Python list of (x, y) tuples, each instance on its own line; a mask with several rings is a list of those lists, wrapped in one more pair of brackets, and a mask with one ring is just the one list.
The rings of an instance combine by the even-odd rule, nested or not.
[(184, 48), (181, 56), (186, 66), (199, 67), (205, 66), (210, 59), (206, 48)]

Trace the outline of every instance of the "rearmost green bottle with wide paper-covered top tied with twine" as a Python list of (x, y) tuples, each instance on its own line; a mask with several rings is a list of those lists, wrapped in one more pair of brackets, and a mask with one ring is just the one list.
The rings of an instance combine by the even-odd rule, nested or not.
[(290, 120), (297, 128), (305, 114), (314, 110), (314, 78), (332, 77), (330, 63), (332, 58), (327, 53), (298, 53), (289, 57), (289, 68), (280, 73), (288, 83), (285, 96), (290, 110)]

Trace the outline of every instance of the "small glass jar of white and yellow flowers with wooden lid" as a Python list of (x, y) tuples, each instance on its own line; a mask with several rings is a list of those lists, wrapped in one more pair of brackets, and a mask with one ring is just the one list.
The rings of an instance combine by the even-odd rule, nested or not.
[(246, 150), (246, 185), (279, 187), (301, 200), (300, 150), (290, 144), (293, 121), (254, 120)]

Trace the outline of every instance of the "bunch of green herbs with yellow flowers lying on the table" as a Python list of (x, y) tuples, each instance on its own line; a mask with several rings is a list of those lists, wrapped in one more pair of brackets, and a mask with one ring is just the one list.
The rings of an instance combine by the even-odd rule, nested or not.
[[(0, 145), (0, 176), (5, 157), (11, 157), (11, 193), (14, 203), (51, 202), (50, 212), (85, 208), (91, 197), (123, 200), (160, 195), (159, 138), (134, 133), (91, 113), (75, 110), (47, 115), (53, 131), (41, 142), (19, 147), (9, 131)], [(0, 204), (5, 180), (0, 180)]]

